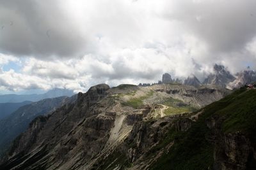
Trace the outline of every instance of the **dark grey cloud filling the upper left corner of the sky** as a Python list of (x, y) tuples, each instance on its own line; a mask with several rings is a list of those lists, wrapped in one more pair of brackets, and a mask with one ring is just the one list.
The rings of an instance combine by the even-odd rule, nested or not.
[(0, 51), (34, 57), (79, 55), (84, 37), (60, 1), (1, 0)]

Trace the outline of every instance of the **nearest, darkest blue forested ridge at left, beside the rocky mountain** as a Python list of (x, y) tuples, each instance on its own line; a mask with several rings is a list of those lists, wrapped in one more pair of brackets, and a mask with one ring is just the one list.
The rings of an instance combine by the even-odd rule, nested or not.
[(13, 139), (28, 128), (31, 120), (40, 115), (47, 115), (65, 103), (70, 103), (74, 97), (56, 97), (31, 103), (0, 120), (0, 155), (8, 149)]

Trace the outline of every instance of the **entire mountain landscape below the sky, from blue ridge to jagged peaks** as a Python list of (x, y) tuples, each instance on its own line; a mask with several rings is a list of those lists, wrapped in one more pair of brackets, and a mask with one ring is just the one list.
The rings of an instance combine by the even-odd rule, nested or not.
[(0, 120), (0, 169), (256, 169), (255, 76), (215, 65), (203, 83), (166, 73), (28, 103)]

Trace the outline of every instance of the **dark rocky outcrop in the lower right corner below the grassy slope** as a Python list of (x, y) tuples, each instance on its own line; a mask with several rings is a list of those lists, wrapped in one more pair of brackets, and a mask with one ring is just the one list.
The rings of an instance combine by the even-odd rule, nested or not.
[(214, 115), (206, 121), (214, 144), (213, 169), (255, 169), (255, 143), (241, 131), (223, 133), (221, 125), (225, 119)]

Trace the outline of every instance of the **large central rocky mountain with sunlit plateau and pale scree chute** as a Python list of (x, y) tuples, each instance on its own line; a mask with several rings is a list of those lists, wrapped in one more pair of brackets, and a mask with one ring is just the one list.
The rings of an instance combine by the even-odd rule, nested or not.
[(157, 146), (170, 129), (191, 128), (196, 118), (185, 109), (229, 93), (186, 85), (97, 85), (79, 93), (74, 103), (33, 120), (13, 141), (0, 169), (123, 169), (131, 164), (141, 169), (172, 147), (172, 142)]

